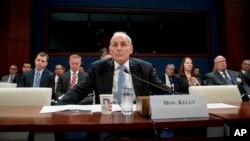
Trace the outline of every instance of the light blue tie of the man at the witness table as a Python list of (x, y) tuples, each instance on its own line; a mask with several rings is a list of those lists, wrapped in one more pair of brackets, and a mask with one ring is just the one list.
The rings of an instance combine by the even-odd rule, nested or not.
[(121, 104), (121, 91), (122, 91), (123, 83), (125, 81), (124, 65), (120, 65), (118, 68), (120, 69), (120, 72), (119, 72), (118, 83), (117, 83), (117, 86), (118, 86), (117, 101), (118, 101), (118, 104)]

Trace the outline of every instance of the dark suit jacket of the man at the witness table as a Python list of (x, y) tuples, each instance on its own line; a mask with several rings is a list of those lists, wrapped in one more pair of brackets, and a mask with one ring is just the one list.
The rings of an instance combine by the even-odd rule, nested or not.
[[(132, 77), (136, 96), (147, 96), (150, 91), (152, 91), (153, 94), (174, 93), (153, 74), (153, 67), (150, 63), (130, 58), (129, 66), (130, 72), (135, 76), (167, 89), (167, 91), (162, 91), (159, 88), (152, 87), (151, 85)], [(95, 91), (96, 103), (100, 103), (99, 94), (112, 93), (113, 75), (114, 61), (112, 59), (98, 60), (92, 63), (86, 79), (76, 85), (76, 87), (72, 89), (72, 93), (66, 94), (59, 101), (59, 104), (79, 103), (80, 100), (86, 97), (89, 93), (92, 93), (93, 90)]]

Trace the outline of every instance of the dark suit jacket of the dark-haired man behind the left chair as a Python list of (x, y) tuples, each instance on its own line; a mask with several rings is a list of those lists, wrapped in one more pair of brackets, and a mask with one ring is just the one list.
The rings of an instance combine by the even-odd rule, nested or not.
[[(19, 87), (33, 87), (34, 75), (35, 75), (35, 70), (31, 70), (29, 72), (24, 73), (22, 77), (22, 82), (19, 84)], [(55, 85), (54, 74), (51, 71), (44, 69), (41, 76), (39, 87), (52, 88), (52, 92), (54, 92), (54, 87), (55, 87), (54, 85)]]

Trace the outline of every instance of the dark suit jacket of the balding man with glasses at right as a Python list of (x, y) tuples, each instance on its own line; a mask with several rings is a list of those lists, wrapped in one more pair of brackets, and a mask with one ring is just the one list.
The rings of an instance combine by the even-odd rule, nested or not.
[[(227, 70), (227, 73), (229, 74), (232, 83), (234, 85), (237, 85), (237, 77), (238, 77), (238, 73), (236, 71), (232, 71), (232, 70)], [(227, 85), (227, 81), (223, 78), (223, 76), (218, 72), (218, 71), (214, 71), (214, 72), (210, 72), (207, 73), (205, 75), (205, 84), (206, 85)]]

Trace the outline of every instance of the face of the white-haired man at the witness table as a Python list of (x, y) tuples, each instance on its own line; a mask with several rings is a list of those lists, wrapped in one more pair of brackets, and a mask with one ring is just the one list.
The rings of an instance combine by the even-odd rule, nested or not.
[(124, 64), (133, 53), (133, 47), (125, 36), (116, 36), (110, 42), (109, 52), (117, 63)]

